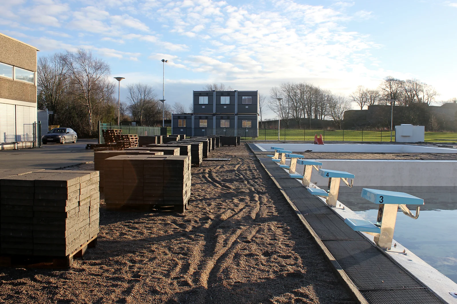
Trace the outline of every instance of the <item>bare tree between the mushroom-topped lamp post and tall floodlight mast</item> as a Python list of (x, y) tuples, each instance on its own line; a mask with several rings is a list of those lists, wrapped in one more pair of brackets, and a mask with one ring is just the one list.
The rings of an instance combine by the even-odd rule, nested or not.
[(127, 90), (130, 112), (133, 118), (138, 118), (140, 124), (142, 124), (143, 115), (149, 107), (154, 106), (154, 100), (157, 99), (157, 94), (155, 94), (151, 85), (141, 82), (128, 84)]

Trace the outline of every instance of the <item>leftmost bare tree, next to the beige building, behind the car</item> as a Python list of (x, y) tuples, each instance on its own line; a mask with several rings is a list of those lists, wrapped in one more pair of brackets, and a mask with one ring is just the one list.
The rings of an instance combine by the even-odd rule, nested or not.
[(38, 103), (47, 110), (53, 111), (51, 125), (54, 124), (54, 117), (58, 115), (60, 103), (68, 87), (69, 77), (64, 54), (55, 53), (40, 57), (37, 64)]

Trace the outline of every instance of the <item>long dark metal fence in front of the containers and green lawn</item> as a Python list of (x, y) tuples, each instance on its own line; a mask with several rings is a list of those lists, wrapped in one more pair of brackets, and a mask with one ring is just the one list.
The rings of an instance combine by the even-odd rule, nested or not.
[[(247, 140), (278, 140), (277, 129), (255, 128), (167, 128), (167, 134), (186, 134), (186, 136), (231, 135)], [(322, 134), (324, 141), (335, 142), (390, 142), (390, 131), (384, 130), (324, 130), (324, 129), (281, 129), (279, 140), (314, 141), (314, 135)], [(395, 141), (395, 131), (392, 131)]]

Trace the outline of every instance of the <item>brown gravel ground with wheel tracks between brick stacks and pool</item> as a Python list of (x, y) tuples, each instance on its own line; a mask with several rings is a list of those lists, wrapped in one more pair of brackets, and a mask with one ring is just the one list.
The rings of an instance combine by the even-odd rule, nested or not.
[[(0, 303), (354, 303), (247, 145), (192, 168), (185, 214), (107, 211), (68, 270), (0, 268)], [(80, 166), (93, 169), (93, 164)]]

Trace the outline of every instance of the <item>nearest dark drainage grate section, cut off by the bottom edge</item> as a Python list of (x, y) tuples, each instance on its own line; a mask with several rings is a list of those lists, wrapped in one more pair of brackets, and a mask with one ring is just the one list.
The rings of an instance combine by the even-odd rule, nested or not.
[(437, 299), (427, 288), (391, 289), (361, 291), (362, 295), (371, 304), (436, 304), (446, 303)]

